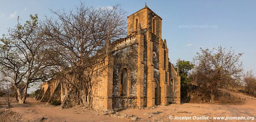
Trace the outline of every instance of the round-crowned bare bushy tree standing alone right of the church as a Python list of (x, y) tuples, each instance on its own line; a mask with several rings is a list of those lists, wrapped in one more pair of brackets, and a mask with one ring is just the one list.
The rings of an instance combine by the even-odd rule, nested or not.
[(240, 78), (243, 71), (240, 58), (242, 53), (235, 54), (231, 49), (202, 49), (194, 58), (195, 68), (192, 73), (194, 81), (214, 102), (219, 88)]

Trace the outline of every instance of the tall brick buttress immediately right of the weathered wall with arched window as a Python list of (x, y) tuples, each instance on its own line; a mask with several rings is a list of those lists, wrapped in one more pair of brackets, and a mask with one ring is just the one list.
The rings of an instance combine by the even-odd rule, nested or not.
[(142, 108), (144, 105), (143, 87), (144, 87), (144, 37), (142, 34), (136, 35), (138, 42), (138, 76), (137, 76), (137, 106)]

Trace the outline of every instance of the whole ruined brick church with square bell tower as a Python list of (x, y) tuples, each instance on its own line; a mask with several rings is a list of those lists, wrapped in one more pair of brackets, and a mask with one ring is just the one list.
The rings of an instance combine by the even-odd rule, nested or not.
[[(112, 43), (108, 65), (93, 87), (95, 109), (142, 108), (180, 103), (180, 76), (168, 58), (162, 40), (162, 18), (145, 6), (129, 15), (126, 38)], [(52, 78), (36, 97), (49, 104), (63, 101), (65, 84)]]

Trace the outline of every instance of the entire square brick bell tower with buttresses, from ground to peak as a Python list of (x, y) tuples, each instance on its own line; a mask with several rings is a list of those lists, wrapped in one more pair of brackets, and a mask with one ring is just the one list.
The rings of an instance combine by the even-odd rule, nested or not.
[(162, 40), (162, 18), (145, 5), (127, 19), (127, 36), (135, 36), (138, 43), (137, 106), (167, 105), (168, 48)]

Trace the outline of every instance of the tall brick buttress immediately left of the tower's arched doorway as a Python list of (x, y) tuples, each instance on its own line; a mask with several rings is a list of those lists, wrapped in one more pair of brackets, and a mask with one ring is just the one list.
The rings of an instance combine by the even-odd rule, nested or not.
[(151, 33), (147, 31), (147, 107), (153, 107), (155, 105), (155, 87), (153, 80), (153, 41), (151, 40)]

